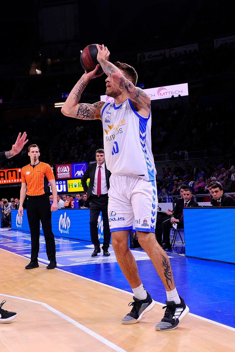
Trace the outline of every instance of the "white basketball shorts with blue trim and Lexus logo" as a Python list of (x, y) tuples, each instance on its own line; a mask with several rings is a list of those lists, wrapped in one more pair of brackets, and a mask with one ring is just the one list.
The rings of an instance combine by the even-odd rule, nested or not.
[(132, 230), (155, 232), (157, 188), (135, 174), (111, 175), (108, 191), (110, 232)]

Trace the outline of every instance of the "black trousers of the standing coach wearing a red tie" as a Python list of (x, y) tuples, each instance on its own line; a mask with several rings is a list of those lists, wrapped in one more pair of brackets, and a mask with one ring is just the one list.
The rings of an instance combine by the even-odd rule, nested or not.
[(95, 248), (100, 247), (97, 228), (100, 212), (103, 218), (104, 234), (102, 249), (103, 251), (107, 251), (111, 237), (108, 221), (108, 194), (101, 194), (99, 197), (97, 195), (90, 196), (90, 238)]

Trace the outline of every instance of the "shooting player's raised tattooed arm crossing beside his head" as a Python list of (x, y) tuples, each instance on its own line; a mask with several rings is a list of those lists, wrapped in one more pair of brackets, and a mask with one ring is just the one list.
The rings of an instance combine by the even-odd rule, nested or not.
[(107, 61), (109, 51), (107, 47), (102, 45), (102, 50), (99, 45), (96, 45), (98, 49), (97, 60), (100, 63), (104, 73), (112, 80), (114, 84), (121, 90), (121, 92), (128, 96), (133, 102), (142, 108), (146, 108), (149, 111), (150, 98), (148, 95), (139, 87), (135, 87), (134, 84), (129, 81), (121, 71), (111, 62)]

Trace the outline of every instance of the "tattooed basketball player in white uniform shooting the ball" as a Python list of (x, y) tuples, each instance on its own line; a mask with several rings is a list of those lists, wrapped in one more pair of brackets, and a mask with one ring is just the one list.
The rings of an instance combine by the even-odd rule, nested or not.
[[(139, 243), (166, 289), (164, 318), (155, 328), (158, 331), (172, 330), (188, 314), (189, 308), (177, 293), (170, 260), (154, 234), (158, 200), (151, 151), (151, 101), (142, 89), (135, 87), (137, 73), (134, 68), (120, 62), (112, 64), (107, 61), (107, 47), (102, 45), (100, 50), (96, 46), (99, 65), (94, 71), (82, 75), (64, 103), (62, 113), (78, 119), (102, 121), (106, 163), (112, 172), (108, 191), (112, 245), (134, 293), (134, 302), (129, 304), (133, 308), (122, 323), (139, 322), (142, 315), (155, 305), (140, 280), (135, 259), (128, 247), (129, 230), (135, 221)], [(115, 101), (79, 104), (83, 89), (92, 78), (98, 76), (96, 72), (100, 66), (107, 75), (106, 94)]]

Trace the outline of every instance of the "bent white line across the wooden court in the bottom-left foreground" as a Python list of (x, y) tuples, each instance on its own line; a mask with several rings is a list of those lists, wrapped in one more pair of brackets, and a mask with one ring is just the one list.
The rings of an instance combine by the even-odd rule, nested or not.
[(75, 321), (74, 319), (69, 318), (69, 316), (59, 312), (59, 310), (49, 306), (49, 304), (46, 304), (44, 302), (39, 302), (39, 301), (34, 301), (34, 300), (29, 300), (28, 298), (22, 298), (22, 297), (16, 297), (16, 296), (10, 296), (10, 295), (4, 295), (2, 293), (0, 293), (0, 296), (4, 296), (4, 297), (11, 297), (11, 298), (16, 298), (18, 300), (22, 300), (22, 301), (28, 301), (28, 302), (32, 302), (32, 303), (37, 303), (37, 304), (41, 304), (43, 307), (51, 310), (51, 312), (59, 315), (61, 318), (67, 320), (68, 322), (70, 322), (71, 324), (75, 325), (77, 328), (81, 329), (82, 331), (84, 331), (85, 333), (93, 336), (96, 340), (101, 341), (104, 345), (109, 346), (110, 348), (112, 348), (114, 351), (117, 352), (127, 352), (126, 350), (123, 350), (121, 347), (113, 344), (113, 342), (105, 339), (104, 337), (100, 336), (99, 334), (95, 333), (94, 331), (88, 329), (87, 327), (85, 327), (84, 325), (81, 325), (80, 323), (78, 323), (77, 321)]

